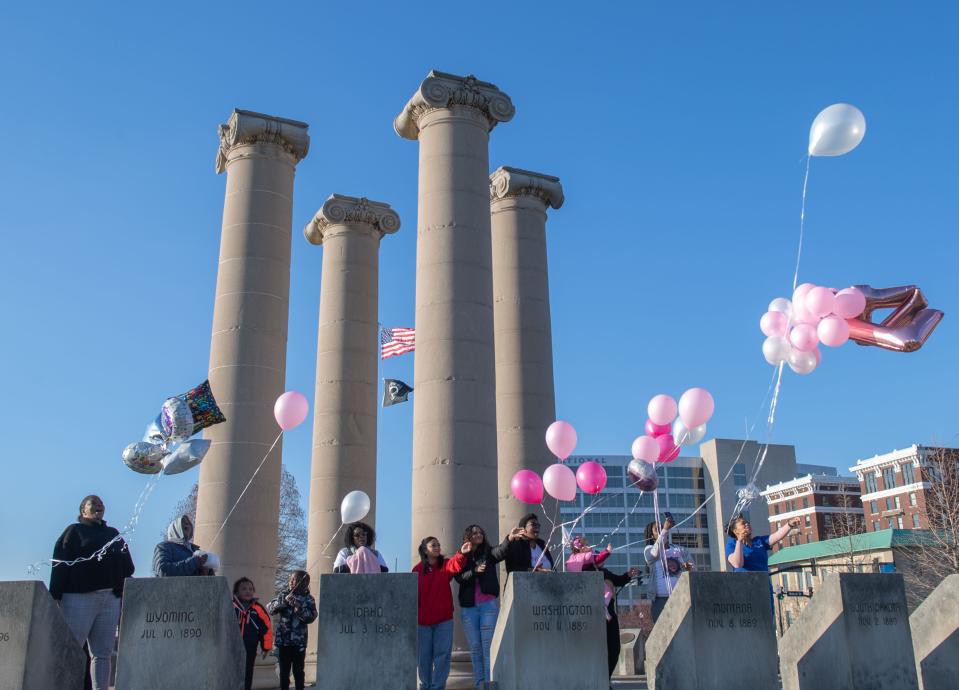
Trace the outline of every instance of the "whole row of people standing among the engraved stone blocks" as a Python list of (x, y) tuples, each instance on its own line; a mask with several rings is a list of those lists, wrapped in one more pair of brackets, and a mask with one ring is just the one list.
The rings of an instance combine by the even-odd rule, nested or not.
[[(103, 519), (105, 507), (98, 496), (86, 496), (80, 503), (77, 522), (68, 526), (57, 540), (50, 593), (60, 604), (64, 618), (80, 644), (88, 651), (90, 671), (87, 687), (108, 690), (111, 660), (120, 619), (123, 583), (134, 573), (133, 560), (119, 533)], [(682, 572), (693, 568), (688, 552), (670, 539), (675, 526), (664, 514), (662, 524), (646, 527), (646, 581), (652, 598), (655, 624)], [(768, 551), (789, 531), (798, 518), (769, 536), (753, 536), (749, 521), (734, 517), (728, 527), (726, 557), (736, 571), (767, 571)], [(193, 523), (182, 515), (170, 523), (167, 538), (154, 550), (153, 572), (157, 577), (204, 576), (215, 572), (215, 556), (193, 543)], [(349, 525), (342, 549), (333, 563), (335, 573), (389, 572), (375, 548), (376, 533), (363, 522)], [(604, 566), (612, 544), (593, 549), (586, 537), (570, 543), (566, 570), (598, 571), (603, 575), (606, 617), (606, 645), (609, 674), (619, 659), (619, 619), (616, 595), (638, 575), (637, 568), (613, 573)], [(451, 556), (443, 554), (436, 537), (426, 537), (417, 549), (418, 575), (417, 647), (420, 690), (446, 687), (453, 648), (453, 597), (450, 584), (456, 581), (460, 618), (470, 647), (477, 686), (490, 680), (490, 647), (499, 615), (500, 582), (497, 564), (504, 563), (506, 576), (513, 572), (551, 572), (557, 563), (549, 546), (540, 538), (535, 513), (523, 516), (500, 544), (490, 544), (480, 525), (469, 525), (462, 545)], [(91, 558), (91, 556), (94, 556)], [(310, 576), (295, 570), (284, 588), (264, 607), (256, 598), (252, 580), (241, 577), (233, 585), (233, 610), (246, 651), (245, 687), (252, 687), (258, 654), (276, 654), (280, 687), (289, 690), (290, 675), (296, 690), (304, 688), (307, 626), (316, 620), (316, 600), (310, 594)], [(770, 590), (771, 591), (771, 590)], [(275, 625), (271, 618), (275, 618)]]

